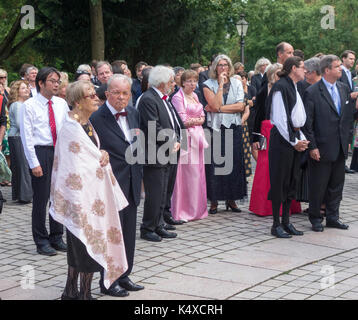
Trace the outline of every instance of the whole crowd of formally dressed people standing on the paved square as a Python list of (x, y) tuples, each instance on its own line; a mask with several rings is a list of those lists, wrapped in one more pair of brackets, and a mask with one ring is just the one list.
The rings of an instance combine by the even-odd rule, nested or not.
[(135, 79), (124, 60), (93, 61), (73, 82), (24, 64), (9, 87), (0, 69), (1, 185), (32, 202), (37, 252), (67, 252), (62, 299), (92, 299), (94, 272), (104, 294), (144, 289), (129, 277), (141, 198), (140, 238), (176, 238), (176, 225), (218, 214), (219, 201), (241, 212), (251, 161), (249, 210), (272, 215), (273, 236), (303, 235), (290, 223), (301, 202), (313, 231), (324, 217), (348, 229), (339, 206), (345, 173), (358, 171), (355, 52), (304, 60), (282, 42), (276, 55), (250, 72), (225, 54), (187, 70), (140, 61)]

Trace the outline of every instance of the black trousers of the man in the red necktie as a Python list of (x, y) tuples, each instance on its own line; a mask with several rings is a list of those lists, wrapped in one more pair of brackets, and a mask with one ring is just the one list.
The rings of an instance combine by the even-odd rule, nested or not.
[(57, 243), (62, 239), (63, 226), (49, 216), (50, 234), (46, 229), (47, 203), (50, 198), (51, 173), (54, 148), (35, 146), (36, 156), (40, 162), (43, 176), (35, 177), (31, 170), (33, 189), (32, 235), (37, 246)]

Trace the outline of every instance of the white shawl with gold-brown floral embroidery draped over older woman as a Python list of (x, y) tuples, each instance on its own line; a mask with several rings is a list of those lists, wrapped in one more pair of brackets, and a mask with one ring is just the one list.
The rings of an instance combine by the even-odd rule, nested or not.
[(100, 166), (101, 156), (81, 125), (67, 116), (55, 148), (50, 214), (103, 266), (109, 288), (128, 268), (118, 214), (128, 202), (111, 165)]

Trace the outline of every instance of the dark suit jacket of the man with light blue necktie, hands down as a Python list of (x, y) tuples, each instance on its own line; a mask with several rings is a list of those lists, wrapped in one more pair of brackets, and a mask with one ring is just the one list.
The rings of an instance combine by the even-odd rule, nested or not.
[(311, 85), (304, 94), (307, 120), (303, 132), (310, 141), (309, 149), (318, 148), (321, 161), (336, 161), (340, 149), (348, 156), (353, 109), (348, 87), (337, 81), (337, 88), (341, 98), (340, 115), (323, 80)]

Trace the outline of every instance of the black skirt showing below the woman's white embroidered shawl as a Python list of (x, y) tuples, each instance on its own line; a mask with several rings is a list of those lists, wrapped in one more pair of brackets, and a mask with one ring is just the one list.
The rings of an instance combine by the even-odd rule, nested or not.
[(67, 263), (78, 272), (99, 272), (103, 268), (87, 252), (86, 246), (66, 228)]

